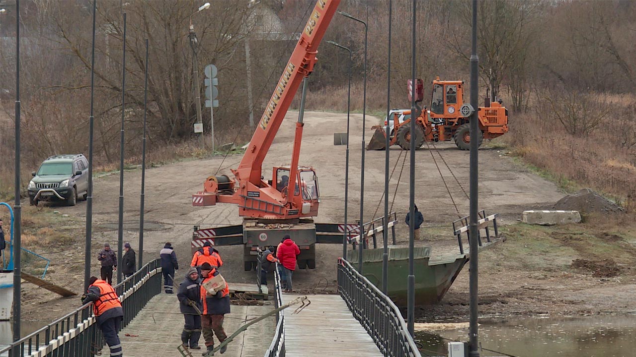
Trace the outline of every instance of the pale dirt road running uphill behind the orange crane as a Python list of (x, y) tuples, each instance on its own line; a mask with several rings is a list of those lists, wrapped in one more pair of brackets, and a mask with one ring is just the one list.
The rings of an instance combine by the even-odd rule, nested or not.
[[(291, 147), (297, 113), (290, 112), (280, 128), (275, 142), (263, 164), (263, 176), (271, 177), (271, 168), (288, 164), (291, 161)], [(300, 165), (311, 165), (317, 170), (321, 207), (317, 222), (343, 222), (343, 197), (345, 189), (345, 146), (333, 145), (333, 133), (345, 132), (346, 114), (326, 112), (307, 112), (305, 131), (301, 149)], [(366, 128), (375, 125), (377, 118), (368, 116)], [(351, 116), (350, 136), (350, 173), (349, 173), (349, 222), (359, 219), (360, 203), (360, 164), (362, 147), (362, 116)], [(366, 140), (371, 138), (371, 130), (365, 130)], [(464, 191), (468, 191), (468, 152), (459, 151), (454, 144), (440, 143), (437, 150), (417, 151), (415, 167), (415, 202), (424, 213), (424, 238), (427, 243), (434, 241), (440, 246), (453, 245), (450, 222), (457, 219), (457, 211), (446, 191), (443, 180), (457, 205), (461, 215), (468, 213), (468, 201)], [(153, 148), (149, 147), (149, 151)], [(408, 210), (409, 160), (404, 157), (408, 152), (394, 147), (391, 150), (391, 167), (394, 169), (390, 181), (389, 198), (392, 210), (398, 212), (398, 240), (405, 237), (403, 219)], [(441, 170), (441, 176), (437, 165)], [(443, 158), (443, 160), (442, 160)], [(172, 242), (182, 267), (190, 262), (190, 239), (193, 225), (214, 227), (226, 224), (240, 224), (238, 208), (233, 205), (217, 205), (205, 208), (191, 205), (191, 194), (202, 189), (206, 177), (215, 173), (231, 174), (241, 157), (181, 161), (171, 165), (146, 170), (146, 233), (144, 234), (144, 260), (155, 259), (166, 241)], [(446, 168), (452, 169), (452, 173)], [(220, 166), (220, 170), (219, 170)], [(366, 151), (364, 182), (364, 220), (371, 220), (383, 214), (384, 205), (378, 203), (384, 191), (384, 151)], [(400, 175), (401, 173), (401, 175)], [(460, 187), (453, 175), (457, 177)], [(129, 241), (136, 249), (139, 244), (139, 193), (141, 189), (141, 170), (125, 171), (124, 241)], [(398, 177), (400, 177), (398, 181)], [(443, 180), (442, 180), (443, 178)], [(95, 179), (93, 199), (92, 250), (97, 254), (103, 243), (116, 247), (118, 217), (118, 174), (106, 175)], [(394, 197), (394, 192), (397, 192)], [(528, 172), (507, 156), (495, 149), (480, 150), (480, 208), (487, 212), (502, 215), (503, 224), (516, 222), (524, 209), (553, 204), (563, 193), (557, 187)], [(61, 213), (68, 213), (79, 222), (85, 219), (86, 203), (80, 201), (74, 207), (55, 207)], [(81, 233), (83, 234), (83, 232)], [(79, 234), (78, 234), (79, 236)], [(115, 248), (116, 249), (116, 248)], [(254, 273), (245, 272), (242, 266), (241, 246), (219, 248), (225, 260), (223, 274), (230, 282), (249, 282)], [(83, 245), (81, 239), (74, 249), (73, 259), (81, 260)], [(294, 273), (294, 288), (301, 290), (335, 291), (336, 259), (342, 255), (342, 247), (321, 245), (316, 249), (317, 266), (315, 270), (297, 270)], [(69, 258), (71, 259), (71, 258)], [(99, 271), (98, 262), (93, 258), (93, 271)], [(60, 269), (58, 269), (60, 270)], [(76, 278), (60, 278), (67, 284), (81, 288), (81, 269), (79, 266), (69, 273)], [(183, 269), (182, 269), (183, 271)], [(57, 274), (62, 274), (61, 272)], [(178, 274), (181, 275), (180, 273)], [(55, 278), (55, 274), (52, 275)], [(73, 281), (73, 283), (71, 283)], [(48, 296), (48, 295), (47, 295)], [(50, 297), (55, 299), (55, 297)]]

